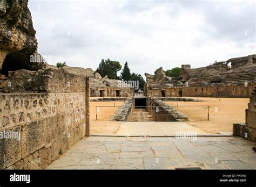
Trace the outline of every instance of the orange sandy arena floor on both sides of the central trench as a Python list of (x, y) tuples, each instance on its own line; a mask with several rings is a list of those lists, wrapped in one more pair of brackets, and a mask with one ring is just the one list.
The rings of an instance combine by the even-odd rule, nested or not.
[[(198, 128), (206, 133), (218, 134), (232, 132), (233, 123), (245, 123), (245, 109), (247, 98), (195, 98), (203, 102), (166, 102), (179, 111), (185, 113), (190, 121), (186, 124)], [(219, 101), (220, 100), (220, 101)], [(110, 116), (124, 102), (91, 102), (91, 134), (119, 134), (121, 123), (109, 121)], [(177, 106), (177, 104), (179, 106)], [(96, 120), (96, 106), (99, 107), (98, 120)], [(106, 107), (111, 106), (111, 107)], [(115, 107), (113, 107), (115, 106)], [(185, 107), (193, 106), (193, 107)], [(198, 107), (197, 107), (198, 106)], [(210, 120), (207, 121), (208, 107), (210, 106)], [(134, 122), (136, 123), (136, 122)]]

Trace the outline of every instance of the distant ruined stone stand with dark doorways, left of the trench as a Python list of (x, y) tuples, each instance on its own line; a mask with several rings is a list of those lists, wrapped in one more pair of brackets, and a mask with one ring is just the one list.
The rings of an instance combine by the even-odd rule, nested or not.
[(120, 80), (111, 80), (98, 73), (91, 78), (91, 97), (132, 97), (134, 88)]

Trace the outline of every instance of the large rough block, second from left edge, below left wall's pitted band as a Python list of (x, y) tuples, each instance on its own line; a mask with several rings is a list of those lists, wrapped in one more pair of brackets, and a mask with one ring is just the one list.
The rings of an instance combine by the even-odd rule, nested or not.
[(22, 126), (22, 159), (46, 145), (45, 120), (32, 121)]

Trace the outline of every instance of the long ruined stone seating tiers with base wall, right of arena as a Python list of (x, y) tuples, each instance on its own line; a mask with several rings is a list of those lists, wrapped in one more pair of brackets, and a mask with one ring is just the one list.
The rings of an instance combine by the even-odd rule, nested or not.
[[(182, 65), (180, 77), (167, 77), (163, 68), (145, 74), (144, 93), (152, 97), (250, 97), (256, 85), (256, 55), (191, 69)], [(231, 64), (231, 67), (229, 66)]]

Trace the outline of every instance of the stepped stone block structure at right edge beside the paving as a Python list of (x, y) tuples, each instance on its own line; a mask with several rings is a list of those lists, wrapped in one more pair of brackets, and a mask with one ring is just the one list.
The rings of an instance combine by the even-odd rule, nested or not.
[(233, 124), (233, 134), (256, 142), (256, 87), (252, 92), (245, 116), (245, 124)]

